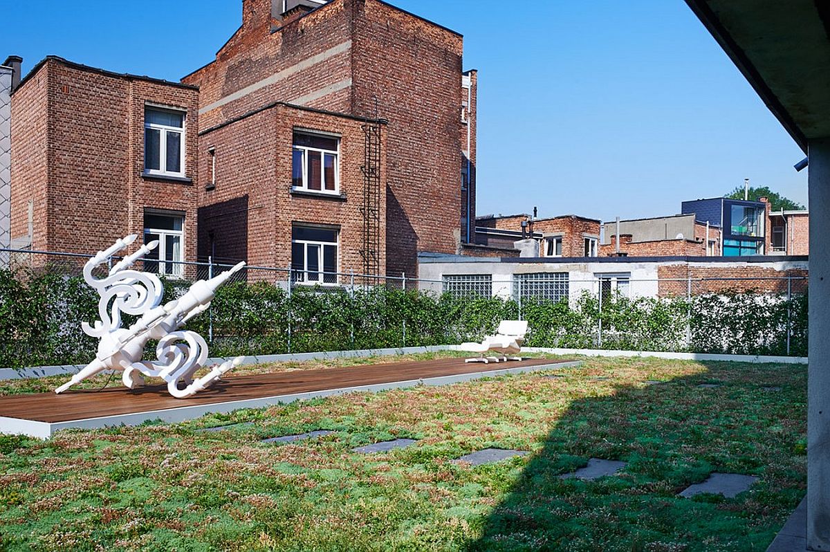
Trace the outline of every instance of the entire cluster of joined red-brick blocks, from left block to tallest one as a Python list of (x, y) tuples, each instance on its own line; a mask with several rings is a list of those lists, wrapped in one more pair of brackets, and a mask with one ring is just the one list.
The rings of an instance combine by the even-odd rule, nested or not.
[(89, 253), (144, 233), (168, 272), (213, 257), (316, 283), (411, 275), (475, 220), (462, 51), (381, 0), (243, 0), (242, 26), (181, 83), (49, 56), (12, 95), (12, 238)]

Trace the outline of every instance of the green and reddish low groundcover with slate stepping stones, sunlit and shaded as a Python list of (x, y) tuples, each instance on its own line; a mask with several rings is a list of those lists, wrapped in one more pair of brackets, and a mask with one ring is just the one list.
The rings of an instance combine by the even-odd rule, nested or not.
[[(0, 550), (763, 551), (804, 494), (806, 372), (586, 359), (190, 423), (0, 436)], [(334, 433), (261, 442), (314, 429)], [(351, 451), (396, 437), (418, 441)], [(485, 447), (531, 454), (452, 462)], [(559, 479), (590, 457), (628, 464)], [(711, 471), (759, 481), (734, 499), (677, 496)]]

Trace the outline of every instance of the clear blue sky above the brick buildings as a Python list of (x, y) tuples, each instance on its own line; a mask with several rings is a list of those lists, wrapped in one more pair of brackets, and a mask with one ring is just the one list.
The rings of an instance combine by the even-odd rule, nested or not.
[[(241, 3), (2, 0), (0, 56), (176, 81), (212, 60)], [(464, 34), (480, 71), (479, 214), (674, 214), (744, 178), (807, 203), (801, 150), (682, 0), (393, 3)]]

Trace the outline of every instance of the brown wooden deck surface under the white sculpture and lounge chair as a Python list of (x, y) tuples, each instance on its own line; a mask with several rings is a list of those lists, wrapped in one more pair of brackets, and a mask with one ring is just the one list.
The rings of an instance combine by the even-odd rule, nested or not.
[[(543, 365), (554, 367), (560, 363), (562, 361), (551, 359), (525, 359), (499, 364), (466, 364), (464, 359), (436, 359), (349, 368), (296, 370), (276, 374), (229, 375), (202, 393), (184, 399), (171, 397), (167, 393), (166, 385), (151, 384), (133, 391), (121, 387), (120, 380), (114, 379), (114, 383), (110, 383), (113, 385), (112, 388), (97, 392), (69, 390), (60, 395), (36, 393), (0, 397), (0, 418), (60, 423), (196, 405), (244, 402), (330, 389), (360, 388), (384, 383), (476, 374), (490, 370)], [(0, 427), (0, 432), (2, 431), (3, 428)]]

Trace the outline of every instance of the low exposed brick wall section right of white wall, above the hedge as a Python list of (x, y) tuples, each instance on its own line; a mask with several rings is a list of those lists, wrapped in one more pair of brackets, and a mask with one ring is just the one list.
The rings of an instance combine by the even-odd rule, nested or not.
[[(807, 270), (776, 270), (768, 266), (754, 266), (745, 263), (742, 266), (694, 266), (668, 265), (657, 267), (660, 279), (658, 294), (660, 296), (685, 296), (688, 290), (687, 278), (692, 279), (693, 295), (702, 293), (719, 293), (724, 291), (755, 290), (764, 293), (786, 293), (787, 277), (808, 276)], [(699, 279), (714, 279), (699, 281)], [(716, 279), (722, 280), (716, 280)], [(680, 279), (680, 281), (666, 281)], [(793, 279), (793, 293), (807, 291), (807, 281)]]

